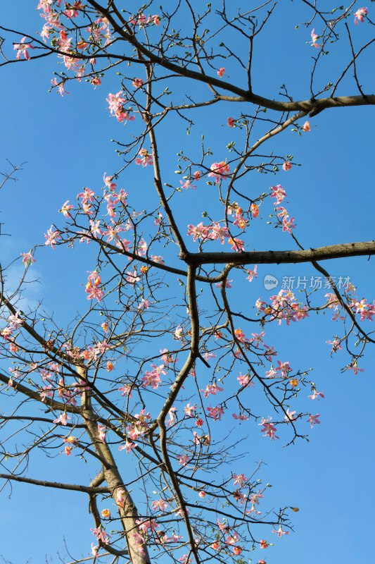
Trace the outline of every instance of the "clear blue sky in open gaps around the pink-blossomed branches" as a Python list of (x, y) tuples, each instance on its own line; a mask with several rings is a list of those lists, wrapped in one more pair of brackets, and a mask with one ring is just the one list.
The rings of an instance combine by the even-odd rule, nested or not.
[[(25, 0), (14, 1), (3, 8), (4, 25), (30, 32), (38, 29), (39, 16), (30, 4)], [(258, 55), (255, 54), (254, 87), (269, 97), (277, 96), (282, 83), (291, 87), (296, 98), (309, 97), (304, 69), (312, 55), (311, 48), (305, 44), (310, 39), (310, 30), (302, 27), (294, 30), (299, 21), (296, 14), (295, 3), (288, 3), (284, 11), (279, 10), (270, 22), (269, 35), (260, 39)], [(351, 29), (360, 44), (357, 36), (361, 32), (368, 33), (367, 27), (351, 26)], [(282, 39), (278, 39), (280, 36)], [(295, 47), (298, 44), (300, 49)], [(348, 60), (348, 46), (343, 52), (338, 59), (332, 57), (332, 63), (327, 58), (325, 71), (319, 76), (322, 83), (332, 80), (334, 66)], [(364, 84), (369, 64), (369, 59), (364, 59), (359, 65)], [(61, 99), (55, 92), (47, 92), (56, 68), (56, 60), (51, 57), (0, 70), (2, 83), (6, 85), (0, 90), (0, 170), (6, 171), (6, 159), (14, 164), (25, 162), (23, 171), (17, 175), (18, 182), (8, 183), (1, 191), (0, 221), (5, 223), (3, 231), (12, 235), (11, 239), (2, 237), (0, 240), (2, 262), (18, 257), (35, 243), (43, 243), (46, 229), (61, 220), (57, 212), (63, 202), (68, 199), (74, 202), (82, 186), (100, 188), (104, 171), (113, 173), (121, 165), (110, 140), (126, 137), (129, 125), (124, 128), (115, 122), (106, 109), (108, 92), (120, 90), (115, 75), (103, 80), (103, 85), (96, 90), (86, 84), (74, 84), (68, 87), (70, 96)], [(228, 80), (234, 80), (235, 70), (227, 72)], [(343, 82), (340, 94), (356, 94), (349, 82), (349, 78)], [(371, 85), (367, 87), (370, 91)], [(181, 83), (179, 88), (184, 88)], [(205, 133), (215, 159), (230, 157), (224, 153), (224, 147), (232, 138), (236, 140), (239, 132), (229, 132), (225, 124), (227, 116), (236, 111), (241, 108), (212, 106), (197, 111), (196, 127), (189, 138), (184, 136), (186, 126), (180, 123), (173, 123), (172, 135), (170, 125), (161, 128), (160, 154), (167, 181), (176, 182), (173, 171), (177, 168), (178, 150), (188, 147), (193, 151), (201, 133)], [(371, 108), (329, 110), (310, 120), (312, 131), (308, 135), (300, 137), (287, 130), (273, 142), (274, 152), (293, 154), (295, 162), (303, 166), (293, 167), (287, 176), (278, 173), (276, 180), (263, 175), (251, 179), (258, 193), (262, 186), (266, 191), (272, 183), (285, 185), (290, 202), (288, 209), (293, 210), (298, 237), (306, 247), (374, 238), (369, 194), (373, 177), (372, 112)], [(224, 157), (220, 157), (223, 154)], [(150, 190), (152, 188), (151, 176), (144, 171), (145, 176), (140, 180), (141, 173), (139, 168), (129, 168), (124, 180), (135, 202), (145, 197), (147, 182)], [(202, 199), (208, 190), (210, 187), (203, 187), (181, 195), (176, 212), (182, 225), (201, 221), (205, 206)], [(205, 203), (210, 202), (210, 193)], [(272, 208), (265, 205), (260, 216), (267, 219), (269, 213)], [(250, 248), (293, 247), (288, 235), (273, 230), (265, 222), (259, 223), (254, 231)], [(193, 249), (192, 243), (189, 245)], [(34, 273), (39, 282), (27, 298), (30, 302), (43, 298), (47, 311), (55, 312), (56, 319), (64, 324), (69, 319), (69, 308), (75, 312), (84, 307), (82, 300), (75, 296), (82, 293), (87, 270), (93, 266), (93, 255), (87, 248), (77, 252), (61, 248), (58, 252), (38, 250), (36, 256)], [(333, 276), (350, 276), (360, 298), (368, 300), (374, 299), (373, 265), (373, 260), (368, 261), (367, 257), (324, 264)], [(17, 269), (15, 265), (15, 277), (19, 273)], [(258, 297), (265, 299), (267, 290), (263, 278), (266, 274), (281, 280), (283, 276), (310, 278), (314, 271), (305, 264), (260, 266), (258, 279), (238, 293), (239, 307), (250, 311)], [(269, 341), (277, 343), (280, 351), (278, 358), (288, 358), (293, 367), (301, 369), (313, 366), (312, 379), (326, 396), (314, 405), (321, 414), (322, 424), (312, 429), (309, 443), (299, 441), (295, 446), (284, 448), (285, 441), (271, 442), (253, 427), (248, 443), (238, 447), (241, 453), (248, 451), (243, 465), (249, 468), (249, 474), (255, 462), (265, 462), (260, 476), (273, 486), (267, 494), (267, 506), (279, 508), (290, 504), (300, 508), (299, 513), (293, 514), (295, 534), (280, 541), (272, 539), (276, 537), (272, 534), (262, 537), (273, 540), (276, 545), (264, 555), (269, 564), (340, 560), (369, 564), (372, 561), (369, 543), (374, 504), (375, 459), (371, 447), (374, 353), (368, 349), (361, 362), (365, 372), (357, 376), (352, 372), (341, 374), (340, 369), (348, 362), (348, 357), (331, 359), (329, 355), (330, 348), (325, 341), (336, 333), (330, 317), (329, 314), (317, 319), (311, 316), (289, 327), (267, 327)], [(0, 409), (6, 407), (1, 405)], [(91, 470), (82, 467), (80, 462), (68, 462), (65, 459), (59, 462), (59, 474), (65, 475), (65, 481), (72, 479), (79, 483), (82, 480), (84, 483), (92, 477)], [(32, 462), (30, 475), (53, 479), (49, 463), (42, 458)], [(20, 484), (15, 484), (11, 498), (6, 496), (8, 493), (8, 489), (5, 495), (3, 492), (0, 508), (0, 523), (6, 531), (1, 546), (4, 558), (13, 563), (27, 562), (30, 558), (30, 563), (34, 564), (42, 562), (47, 555), (51, 562), (58, 562), (56, 551), (62, 548), (63, 553), (63, 537), (69, 541), (74, 556), (89, 551), (93, 537), (88, 529), (92, 525), (87, 517), (84, 494), (45, 492)]]

